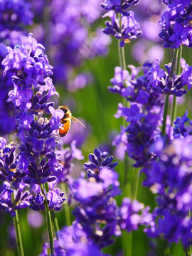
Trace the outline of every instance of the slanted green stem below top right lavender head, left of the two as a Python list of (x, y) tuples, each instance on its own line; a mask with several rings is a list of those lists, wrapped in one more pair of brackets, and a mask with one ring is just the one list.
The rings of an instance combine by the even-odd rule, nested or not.
[[(172, 80), (174, 77), (174, 69), (175, 69), (175, 65), (176, 65), (177, 53), (178, 53), (178, 48), (174, 49), (174, 54), (173, 54), (172, 63), (171, 63), (171, 71), (169, 74), (169, 80)], [(169, 110), (169, 95), (166, 95), (166, 100), (165, 100), (165, 105), (164, 105), (164, 121), (163, 121), (163, 125), (162, 125), (162, 135), (163, 136), (166, 134), (166, 116), (168, 114), (168, 110)]]

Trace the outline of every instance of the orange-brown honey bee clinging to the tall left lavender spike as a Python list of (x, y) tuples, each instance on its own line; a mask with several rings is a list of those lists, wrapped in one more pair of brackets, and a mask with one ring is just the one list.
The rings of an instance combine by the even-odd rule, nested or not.
[(64, 124), (63, 127), (59, 129), (60, 137), (64, 137), (68, 133), (68, 131), (70, 129), (71, 120), (73, 120), (73, 122), (79, 122), (83, 127), (85, 127), (85, 125), (82, 124), (82, 122), (80, 122), (80, 120), (73, 117), (73, 115), (70, 112), (70, 109), (67, 106), (60, 106), (60, 107), (58, 107), (58, 110), (63, 110), (63, 112), (64, 112), (63, 118), (60, 119), (60, 122), (62, 124)]

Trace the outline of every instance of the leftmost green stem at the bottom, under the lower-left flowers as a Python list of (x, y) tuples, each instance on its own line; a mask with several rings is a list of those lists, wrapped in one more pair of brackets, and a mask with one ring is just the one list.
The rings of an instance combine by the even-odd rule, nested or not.
[[(13, 204), (15, 205), (14, 193), (12, 193), (11, 198), (12, 198)], [(13, 220), (14, 220), (14, 227), (16, 230), (16, 246), (17, 246), (18, 256), (24, 256), (23, 243), (21, 238), (21, 228), (18, 220), (18, 210), (16, 210), (16, 215), (13, 218)]]

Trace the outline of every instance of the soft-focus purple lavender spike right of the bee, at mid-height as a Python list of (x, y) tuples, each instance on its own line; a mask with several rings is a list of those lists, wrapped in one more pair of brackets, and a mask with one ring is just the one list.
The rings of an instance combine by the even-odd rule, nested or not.
[[(125, 144), (125, 151), (136, 161), (134, 166), (137, 167), (149, 164), (154, 158), (148, 149), (161, 134), (159, 126), (164, 97), (149, 86), (148, 74), (151, 67), (152, 63), (145, 63), (141, 68), (130, 66), (130, 75), (127, 70), (116, 67), (114, 78), (111, 80), (113, 86), (109, 87), (110, 92), (118, 93), (131, 102), (130, 107), (124, 107), (119, 103), (115, 117), (124, 117), (130, 124), (122, 127), (113, 144)], [(139, 70), (143, 70), (144, 75), (137, 76)], [(127, 134), (127, 139), (124, 139), (124, 134)]]

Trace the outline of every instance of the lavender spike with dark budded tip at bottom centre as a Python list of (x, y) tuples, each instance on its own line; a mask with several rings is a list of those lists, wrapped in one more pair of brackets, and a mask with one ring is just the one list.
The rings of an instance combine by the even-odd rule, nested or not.
[[(95, 176), (90, 176), (88, 170), (87, 176), (90, 178), (87, 181), (85, 178), (78, 178), (73, 183), (71, 187), (73, 197), (80, 203), (73, 214), (78, 223), (81, 223), (85, 233), (102, 248), (113, 242), (112, 235), (120, 235), (117, 225), (117, 205), (112, 200), (112, 197), (120, 192), (118, 175), (112, 169), (117, 164), (111, 164), (112, 158), (106, 158), (106, 153), (98, 149), (95, 149), (95, 155), (90, 154), (89, 157), (92, 163), (85, 164), (85, 169), (94, 169), (95, 166), (99, 169)], [(102, 157), (105, 157), (104, 161)], [(102, 226), (102, 223), (106, 223), (105, 226)]]

